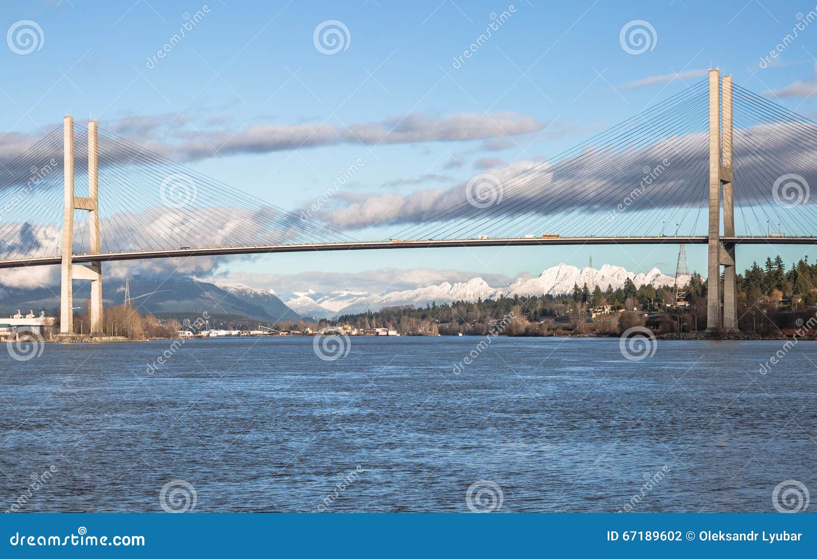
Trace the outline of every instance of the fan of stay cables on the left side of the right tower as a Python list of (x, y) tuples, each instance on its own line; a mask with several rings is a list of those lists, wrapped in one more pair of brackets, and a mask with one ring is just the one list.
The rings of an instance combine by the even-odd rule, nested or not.
[(707, 192), (707, 106), (704, 80), (516, 177), (497, 178), (483, 199), (465, 186), (460, 203), (396, 236), (691, 234)]

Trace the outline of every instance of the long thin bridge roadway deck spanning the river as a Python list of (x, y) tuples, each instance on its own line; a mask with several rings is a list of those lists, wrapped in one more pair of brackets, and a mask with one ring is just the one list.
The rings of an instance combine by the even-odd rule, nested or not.
[[(721, 237), (722, 243), (734, 244), (817, 244), (817, 236), (740, 236)], [(567, 244), (707, 244), (705, 236), (658, 237), (537, 237), (534, 239), (422, 239), (387, 241), (352, 241), (324, 244), (265, 244), (243, 247), (172, 248), (167, 250), (139, 250), (127, 253), (74, 254), (73, 262), (109, 262), (174, 258), (191, 256), (222, 256), (230, 254), (306, 253), (326, 250), (376, 250), (383, 248), (444, 248), (444, 247), (526, 247)], [(21, 266), (52, 266), (60, 264), (60, 257), (33, 257), (0, 261), (0, 268)]]

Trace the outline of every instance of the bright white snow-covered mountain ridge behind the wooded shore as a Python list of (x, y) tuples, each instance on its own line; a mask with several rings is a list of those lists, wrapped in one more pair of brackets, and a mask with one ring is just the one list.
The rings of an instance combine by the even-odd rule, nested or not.
[[(624, 282), (630, 279), (636, 287), (650, 284), (654, 287), (663, 287), (675, 284), (675, 277), (662, 274), (658, 268), (653, 268), (646, 274), (635, 274), (627, 271), (623, 266), (605, 264), (598, 270), (590, 267), (577, 268), (567, 264), (559, 264), (543, 271), (535, 278), (519, 278), (505, 287), (492, 288), (482, 278), (470, 279), (467, 282), (450, 284), (443, 282), (439, 285), (395, 291), (382, 295), (370, 295), (364, 292), (333, 292), (313, 299), (303, 293), (296, 293), (287, 305), (302, 316), (331, 318), (337, 315), (350, 315), (365, 311), (379, 311), (385, 306), (426, 306), (432, 302), (437, 304), (455, 301), (477, 301), (498, 297), (532, 297), (536, 295), (566, 295), (573, 292), (574, 285), (579, 287), (587, 284), (591, 290), (599, 286), (605, 290), (608, 285), (614, 289), (623, 288)], [(689, 276), (681, 278), (683, 284), (689, 282)], [(311, 291), (311, 290), (310, 290)], [(314, 292), (312, 292), (314, 293)]]

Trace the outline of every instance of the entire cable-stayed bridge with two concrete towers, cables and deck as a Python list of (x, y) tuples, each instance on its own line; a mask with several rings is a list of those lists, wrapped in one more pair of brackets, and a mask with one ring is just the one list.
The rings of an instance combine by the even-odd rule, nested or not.
[(104, 262), (551, 244), (708, 244), (708, 328), (731, 330), (735, 247), (817, 244), (817, 124), (717, 70), (515, 177), (483, 173), (408, 208), (389, 240), (352, 239), (71, 117), (0, 177), (0, 267), (61, 266), (65, 334), (75, 279), (92, 281), (99, 331)]

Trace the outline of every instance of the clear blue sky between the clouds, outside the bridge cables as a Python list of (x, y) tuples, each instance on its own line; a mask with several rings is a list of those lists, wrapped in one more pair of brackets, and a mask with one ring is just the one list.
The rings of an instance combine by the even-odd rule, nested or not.
[[(195, 169), (283, 208), (301, 208), (327, 190), (337, 167), (364, 165), (351, 194), (410, 195), (467, 181), (481, 164), (542, 161), (699, 81), (718, 66), (754, 92), (814, 117), (817, 22), (775, 61), (758, 62), (813, 2), (514, 2), (510, 18), (471, 58), (453, 60), (509, 2), (7, 2), (2, 29), (33, 20), (42, 45), (20, 56), (0, 49), (0, 131), (38, 135), (70, 111), (93, 112), (100, 126), (137, 141), (163, 140), (174, 121), (190, 141), (254, 125), (359, 127), (419, 114), (429, 126), (456, 115), (508, 114), (511, 127), (551, 123), (547, 132), (513, 134), (506, 149), (471, 141), (417, 140), (377, 145), (235, 152), (199, 158)], [(162, 59), (149, 63), (185, 23), (203, 17)], [(346, 49), (333, 55), (313, 42), (315, 28), (339, 20)], [(632, 20), (654, 28), (651, 50), (625, 51), (619, 32)], [(152, 66), (152, 67), (151, 67)], [(669, 80), (680, 74), (683, 79)], [(792, 87), (792, 84), (797, 84)], [(770, 97), (771, 98), (771, 97)], [(181, 116), (180, 116), (181, 115)], [(526, 120), (527, 119), (527, 120)], [(129, 124), (127, 124), (129, 123)], [(150, 127), (147, 126), (148, 123)], [(158, 125), (157, 125), (158, 123)], [(127, 124), (127, 126), (126, 126)], [(516, 128), (515, 128), (516, 129)], [(167, 132), (167, 131), (165, 131)], [(174, 141), (185, 137), (176, 135)], [(224, 136), (221, 136), (224, 137)], [(493, 138), (503, 140), (503, 138)], [(507, 140), (507, 139), (506, 139)], [(285, 142), (284, 142), (285, 143)], [(509, 145), (507, 145), (509, 144)], [(454, 156), (458, 167), (450, 163)], [(486, 160), (489, 158), (490, 160)], [(391, 186), (384, 186), (391, 183)], [(395, 183), (396, 186), (395, 186)], [(392, 227), (400, 230), (402, 227)], [(371, 232), (373, 238), (388, 230)], [(632, 271), (672, 273), (676, 246), (386, 251), (260, 257), (236, 264), (252, 273), (359, 272), (376, 267), (457, 269), (515, 277), (558, 262), (609, 262)], [(705, 248), (690, 247), (703, 270)], [(787, 260), (801, 248), (781, 248)], [(739, 267), (766, 248), (739, 249)]]

